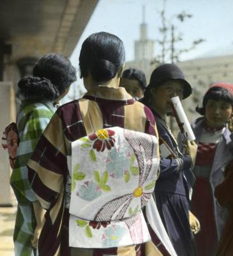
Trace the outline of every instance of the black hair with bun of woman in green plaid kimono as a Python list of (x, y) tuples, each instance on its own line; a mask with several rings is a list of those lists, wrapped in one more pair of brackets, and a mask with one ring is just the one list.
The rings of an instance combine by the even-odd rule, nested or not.
[(24, 97), (54, 100), (76, 81), (76, 70), (68, 58), (49, 53), (33, 68), (33, 76), (20, 79), (18, 86)]

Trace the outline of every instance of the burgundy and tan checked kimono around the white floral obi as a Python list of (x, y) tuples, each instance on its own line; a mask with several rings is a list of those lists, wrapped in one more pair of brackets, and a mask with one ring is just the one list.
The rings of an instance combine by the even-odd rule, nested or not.
[[(47, 209), (46, 222), (38, 242), (39, 255), (68, 256), (71, 251), (72, 255), (86, 255), (79, 249), (73, 252), (74, 249), (68, 246), (69, 209), (66, 207), (65, 185), (69, 176), (71, 142), (98, 129), (116, 126), (156, 135), (154, 117), (149, 108), (132, 99), (124, 88), (96, 86), (83, 99), (57, 109), (43, 132), (27, 164), (31, 187), (43, 208)], [(132, 248), (130, 255), (136, 255), (137, 248)], [(83, 253), (125, 255), (124, 250), (124, 247), (121, 252), (119, 248), (83, 249)]]

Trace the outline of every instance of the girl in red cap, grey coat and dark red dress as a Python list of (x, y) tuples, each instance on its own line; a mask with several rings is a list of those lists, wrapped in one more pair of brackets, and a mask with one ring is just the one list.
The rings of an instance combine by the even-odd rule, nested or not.
[(214, 188), (223, 181), (225, 166), (233, 157), (232, 135), (227, 125), (232, 116), (233, 85), (212, 84), (202, 104), (202, 108), (197, 108), (202, 117), (192, 124), (198, 150), (191, 211), (201, 225), (195, 236), (198, 255), (211, 256), (227, 220), (227, 209), (217, 203)]

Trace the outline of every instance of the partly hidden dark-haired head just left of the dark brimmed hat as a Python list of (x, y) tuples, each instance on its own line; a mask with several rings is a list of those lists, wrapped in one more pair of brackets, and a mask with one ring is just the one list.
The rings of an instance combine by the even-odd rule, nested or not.
[(124, 87), (126, 92), (138, 100), (143, 97), (146, 89), (146, 76), (142, 70), (128, 68), (123, 72), (120, 86)]

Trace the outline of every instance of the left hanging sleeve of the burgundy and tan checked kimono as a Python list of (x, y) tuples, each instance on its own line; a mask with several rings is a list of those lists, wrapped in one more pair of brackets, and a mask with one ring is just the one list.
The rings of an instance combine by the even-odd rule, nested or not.
[(45, 209), (64, 191), (64, 177), (68, 173), (67, 145), (63, 123), (56, 112), (27, 163), (31, 188)]

